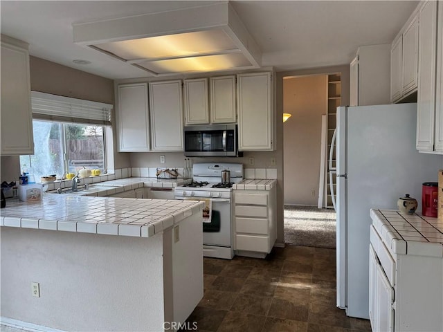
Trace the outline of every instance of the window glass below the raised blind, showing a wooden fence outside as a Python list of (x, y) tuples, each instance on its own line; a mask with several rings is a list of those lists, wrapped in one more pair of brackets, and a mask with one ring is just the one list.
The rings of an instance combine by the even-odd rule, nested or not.
[(20, 156), (21, 172), (39, 178), (83, 167), (105, 173), (105, 128), (88, 124), (33, 120), (35, 154)]

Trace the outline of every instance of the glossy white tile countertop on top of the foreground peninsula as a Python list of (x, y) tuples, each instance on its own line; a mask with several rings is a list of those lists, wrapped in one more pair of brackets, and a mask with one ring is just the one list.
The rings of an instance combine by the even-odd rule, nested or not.
[(199, 201), (44, 194), (41, 201), (8, 199), (0, 225), (130, 237), (152, 237), (192, 214)]

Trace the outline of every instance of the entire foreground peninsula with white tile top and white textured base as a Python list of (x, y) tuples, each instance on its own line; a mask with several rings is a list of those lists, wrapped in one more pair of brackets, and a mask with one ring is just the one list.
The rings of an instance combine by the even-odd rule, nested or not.
[(64, 331), (163, 331), (164, 322), (183, 322), (203, 297), (202, 208), (69, 194), (8, 201), (2, 321)]

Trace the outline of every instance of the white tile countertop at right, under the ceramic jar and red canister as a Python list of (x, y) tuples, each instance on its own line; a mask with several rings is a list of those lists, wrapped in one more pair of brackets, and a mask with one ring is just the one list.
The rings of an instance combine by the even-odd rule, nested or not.
[(443, 221), (397, 210), (370, 210), (372, 225), (395, 254), (443, 257)]

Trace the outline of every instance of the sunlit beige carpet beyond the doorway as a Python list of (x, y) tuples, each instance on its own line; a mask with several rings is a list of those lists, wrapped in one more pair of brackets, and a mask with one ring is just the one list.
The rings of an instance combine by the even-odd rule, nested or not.
[(284, 242), (295, 246), (336, 248), (335, 211), (284, 205)]

